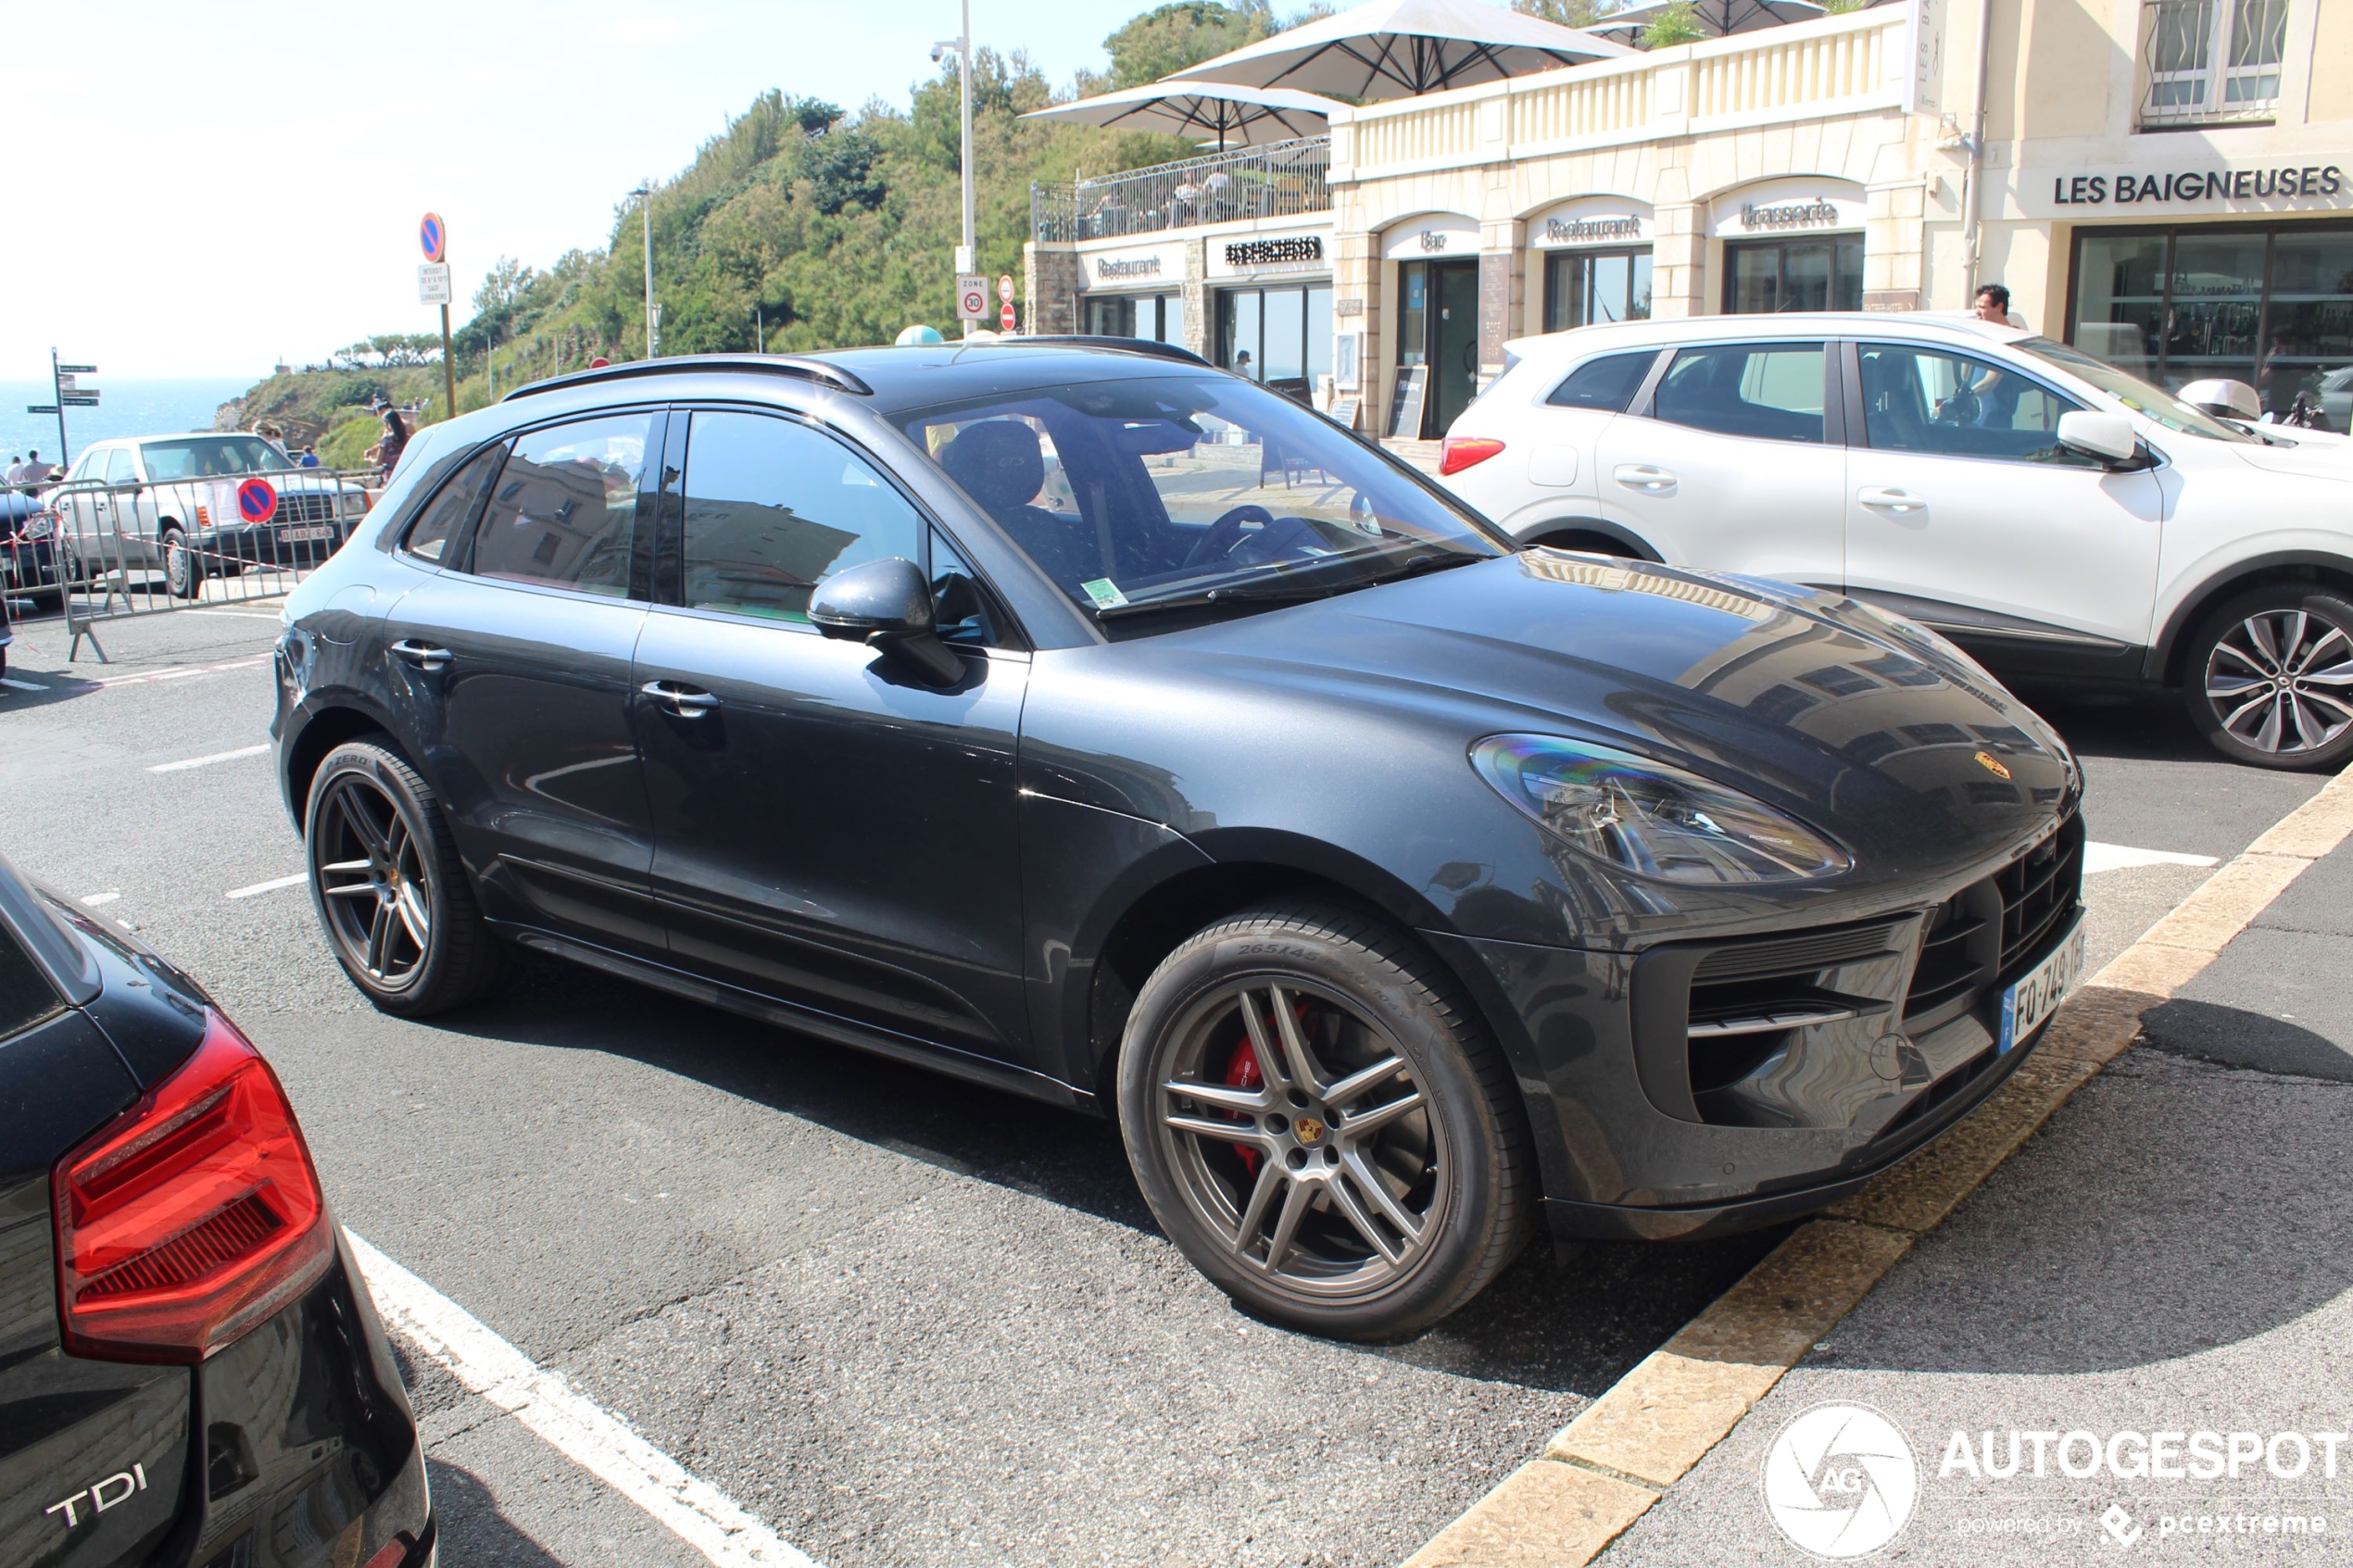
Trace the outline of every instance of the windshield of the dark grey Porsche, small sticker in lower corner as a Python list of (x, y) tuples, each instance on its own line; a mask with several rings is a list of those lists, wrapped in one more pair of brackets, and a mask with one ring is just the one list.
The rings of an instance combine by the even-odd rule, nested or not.
[(1139, 376), (899, 425), (1080, 607), (1337, 592), (1501, 555), (1461, 512), (1280, 393)]

